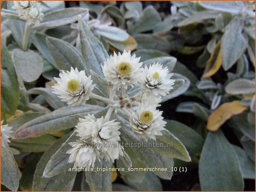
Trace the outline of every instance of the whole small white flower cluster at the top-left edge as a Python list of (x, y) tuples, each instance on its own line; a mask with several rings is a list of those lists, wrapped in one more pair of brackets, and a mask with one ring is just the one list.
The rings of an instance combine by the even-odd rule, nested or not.
[(16, 9), (21, 19), (28, 24), (38, 25), (42, 20), (43, 13), (38, 1), (13, 1), (12, 9)]

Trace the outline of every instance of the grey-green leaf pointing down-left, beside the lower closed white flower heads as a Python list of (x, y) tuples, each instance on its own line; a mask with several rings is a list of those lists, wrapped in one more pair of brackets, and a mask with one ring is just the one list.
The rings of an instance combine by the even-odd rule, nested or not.
[(74, 163), (68, 163), (70, 154), (67, 154), (67, 151), (72, 148), (69, 145), (69, 142), (75, 142), (78, 137), (77, 132), (73, 131), (73, 133), (65, 140), (65, 142), (61, 145), (61, 147), (50, 157), (50, 160), (45, 166), (43, 171), (44, 178), (51, 178), (59, 173), (72, 168)]

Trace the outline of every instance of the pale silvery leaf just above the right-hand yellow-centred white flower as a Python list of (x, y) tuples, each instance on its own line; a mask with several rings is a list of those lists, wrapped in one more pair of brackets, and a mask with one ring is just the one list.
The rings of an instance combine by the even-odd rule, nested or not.
[[(140, 55), (137, 55), (137, 57)], [(169, 69), (169, 73), (172, 72), (172, 70), (175, 67), (175, 64), (177, 62), (177, 59), (175, 57), (157, 57), (154, 59), (148, 59), (143, 62), (144, 65), (149, 66), (150, 64), (153, 65), (154, 63), (160, 63), (163, 64), (163, 68), (167, 67)]]

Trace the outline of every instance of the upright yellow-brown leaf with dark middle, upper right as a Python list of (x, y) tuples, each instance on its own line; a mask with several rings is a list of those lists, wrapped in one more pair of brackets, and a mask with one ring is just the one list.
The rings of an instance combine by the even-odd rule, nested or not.
[(221, 66), (222, 51), (220, 48), (220, 41), (215, 45), (211, 57), (206, 62), (206, 68), (203, 72), (203, 77), (211, 77)]

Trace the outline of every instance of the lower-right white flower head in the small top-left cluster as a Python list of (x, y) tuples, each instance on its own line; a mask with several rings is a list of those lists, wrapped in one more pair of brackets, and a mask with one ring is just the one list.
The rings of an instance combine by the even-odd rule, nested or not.
[(43, 19), (43, 13), (40, 7), (40, 3), (36, 2), (33, 7), (26, 9), (26, 11), (22, 13), (21, 18), (28, 21), (29, 24), (40, 24), (40, 21)]

